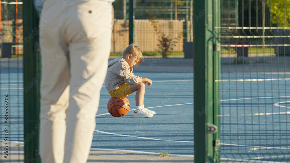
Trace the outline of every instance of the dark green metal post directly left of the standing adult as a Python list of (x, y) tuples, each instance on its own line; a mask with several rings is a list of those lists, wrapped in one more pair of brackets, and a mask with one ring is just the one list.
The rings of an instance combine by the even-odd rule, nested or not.
[(38, 48), (39, 19), (33, 0), (23, 1), (23, 92), (24, 98), (24, 161), (40, 162), (38, 153), (40, 54)]

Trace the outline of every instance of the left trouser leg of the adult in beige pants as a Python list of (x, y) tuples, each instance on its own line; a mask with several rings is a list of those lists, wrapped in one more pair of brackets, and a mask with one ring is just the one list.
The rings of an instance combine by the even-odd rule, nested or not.
[[(41, 19), (48, 21), (40, 28), (41, 100), (39, 150), (43, 163), (62, 163), (66, 133), (66, 109), (69, 96), (69, 59), (65, 41), (60, 35), (63, 5), (46, 1)], [(51, 8), (47, 8), (51, 6)], [(59, 10), (58, 10), (59, 6)], [(32, 80), (32, 79), (31, 79)], [(58, 156), (59, 155), (59, 156)]]

